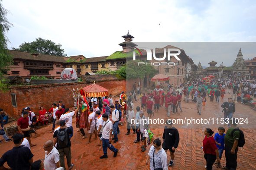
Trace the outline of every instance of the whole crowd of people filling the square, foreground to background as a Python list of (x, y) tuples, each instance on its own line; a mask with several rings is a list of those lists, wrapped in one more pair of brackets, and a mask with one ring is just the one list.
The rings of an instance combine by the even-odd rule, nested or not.
[[(184, 103), (191, 102), (196, 104), (198, 114), (201, 115), (202, 106), (205, 106), (208, 98), (210, 102), (214, 102), (215, 99), (215, 102), (219, 103), (220, 97), (223, 99), (224, 95), (229, 94), (230, 98), (228, 98), (228, 101), (221, 105), (225, 120), (232, 119), (237, 101), (246, 104), (253, 101), (253, 97), (256, 97), (254, 96), (256, 94), (255, 81), (244, 79), (213, 79), (210, 82), (205, 82), (198, 78), (181, 85), (168, 84), (162, 93), (155, 93), (153, 91), (142, 92), (136, 83), (133, 85), (133, 88), (134, 90), (127, 97), (124, 91), (122, 91), (120, 98), (118, 97), (119, 100), (114, 99), (112, 94), (105, 97), (86, 98), (89, 105), (87, 108), (88, 116), (83, 114), (80, 116), (77, 132), (81, 132), (82, 139), (85, 139), (84, 129), (87, 122), (83, 120), (87, 120), (89, 135), (86, 144), (89, 145), (93, 139), (97, 143), (96, 145), (99, 146), (99, 149), (103, 149), (103, 155), (99, 157), (100, 159), (108, 158), (107, 149), (113, 152), (113, 157), (117, 157), (119, 150), (113, 144), (119, 141), (120, 123), (126, 123), (127, 133), (125, 135), (130, 135), (130, 129), (133, 130), (133, 134), (136, 134), (136, 140), (133, 143), (143, 142), (140, 148), (141, 151), (146, 151), (148, 143), (145, 133), (150, 129), (150, 123), (143, 123), (144, 120), (154, 117), (161, 108), (166, 111), (166, 119), (169, 119), (168, 117), (171, 116), (171, 113), (178, 113), (178, 107), (180, 113), (183, 113), (181, 107), (182, 95)], [(137, 98), (139, 97), (140, 101), (136, 100), (135, 91), (137, 91)], [(140, 102), (140, 107), (134, 108), (135, 102)], [(9, 139), (5, 133), (1, 134), (6, 142), (13, 140), (14, 148), (3, 154), (0, 159), (0, 169), (3, 169), (3, 164), (7, 162), (8, 166), (13, 170), (29, 170), (29, 168), (31, 170), (54, 170), (60, 167), (66, 170), (66, 158), (67, 169), (71, 170), (74, 165), (71, 163), (70, 141), (74, 134), (72, 116), (77, 115), (78, 110), (79, 107), (75, 108), (75, 110), (65, 108), (62, 101), (59, 101), (58, 104), (53, 103), (49, 111), (46, 111), (44, 107), (40, 107), (37, 118), (36, 114), (29, 107), (25, 107), (22, 117), (19, 118), (17, 123), (19, 133), (13, 135), (12, 139)], [(254, 108), (254, 110), (256, 109)], [(8, 122), (8, 115), (3, 109), (0, 109), (0, 113), (0, 130), (3, 130), (4, 122)], [(147, 113), (147, 115), (144, 113)], [(47, 126), (49, 119), (53, 119), (51, 128), (53, 139), (46, 141), (43, 146), (45, 161), (33, 162), (33, 154), (30, 151), (30, 147), (36, 144), (32, 144), (30, 138), (32, 133), (35, 134), (34, 138), (36, 138), (36, 128), (39, 128), (38, 123), (41, 122), (42, 126)], [(132, 120), (136, 120), (135, 123)], [(222, 168), (235, 170), (237, 167), (238, 141), (242, 140), (243, 132), (237, 130), (235, 121), (229, 122), (228, 127), (230, 129), (227, 130), (226, 134), (224, 134), (224, 127), (219, 127), (218, 133), (215, 135), (211, 129), (207, 128), (204, 130), (203, 151), (206, 160), (205, 168), (207, 170), (211, 170), (213, 164), (216, 164), (216, 167), (220, 167), (220, 159), (224, 150), (226, 150), (226, 166)], [(92, 138), (93, 136), (94, 138)], [(166, 126), (162, 132), (162, 140), (163, 142), (160, 139), (155, 139), (149, 149), (146, 164), (149, 164), (151, 170), (167, 170), (168, 166), (174, 165), (174, 153), (176, 148), (178, 148), (179, 133), (170, 120), (166, 120)], [(170, 153), (169, 163), (166, 154), (168, 150)], [(16, 158), (13, 161), (13, 157), (17, 157), (19, 154), (16, 153), (19, 152), (26, 152), (26, 157), (22, 159)]]

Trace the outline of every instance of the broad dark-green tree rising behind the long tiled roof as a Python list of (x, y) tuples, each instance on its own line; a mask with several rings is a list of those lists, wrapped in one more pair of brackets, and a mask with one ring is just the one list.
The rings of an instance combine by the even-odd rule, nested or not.
[(31, 43), (24, 42), (19, 45), (19, 48), (13, 47), (12, 49), (30, 53), (68, 57), (67, 54), (64, 54), (64, 49), (62, 49), (61, 44), (55, 44), (55, 42), (51, 40), (45, 40), (42, 38), (36, 38), (36, 41)]

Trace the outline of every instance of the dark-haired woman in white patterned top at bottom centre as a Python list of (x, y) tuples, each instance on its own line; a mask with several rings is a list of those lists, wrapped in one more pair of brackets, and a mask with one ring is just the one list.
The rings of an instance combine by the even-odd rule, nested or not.
[(161, 147), (161, 141), (157, 138), (149, 150), (146, 165), (150, 162), (150, 170), (168, 170), (167, 154)]

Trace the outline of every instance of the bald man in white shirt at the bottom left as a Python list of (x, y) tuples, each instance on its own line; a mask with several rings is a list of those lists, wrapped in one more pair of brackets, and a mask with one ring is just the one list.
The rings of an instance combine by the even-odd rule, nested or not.
[(55, 170), (61, 167), (58, 150), (53, 146), (53, 141), (49, 140), (45, 142), (45, 170)]

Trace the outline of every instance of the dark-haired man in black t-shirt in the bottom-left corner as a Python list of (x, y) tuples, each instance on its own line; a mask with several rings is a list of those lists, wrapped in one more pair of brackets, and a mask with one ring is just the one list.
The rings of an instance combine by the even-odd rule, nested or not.
[[(0, 159), (0, 170), (29, 170), (33, 163), (33, 154), (28, 147), (22, 146), (24, 135), (16, 133), (12, 136), (14, 147), (5, 152)], [(11, 168), (6, 168), (3, 164)]]

